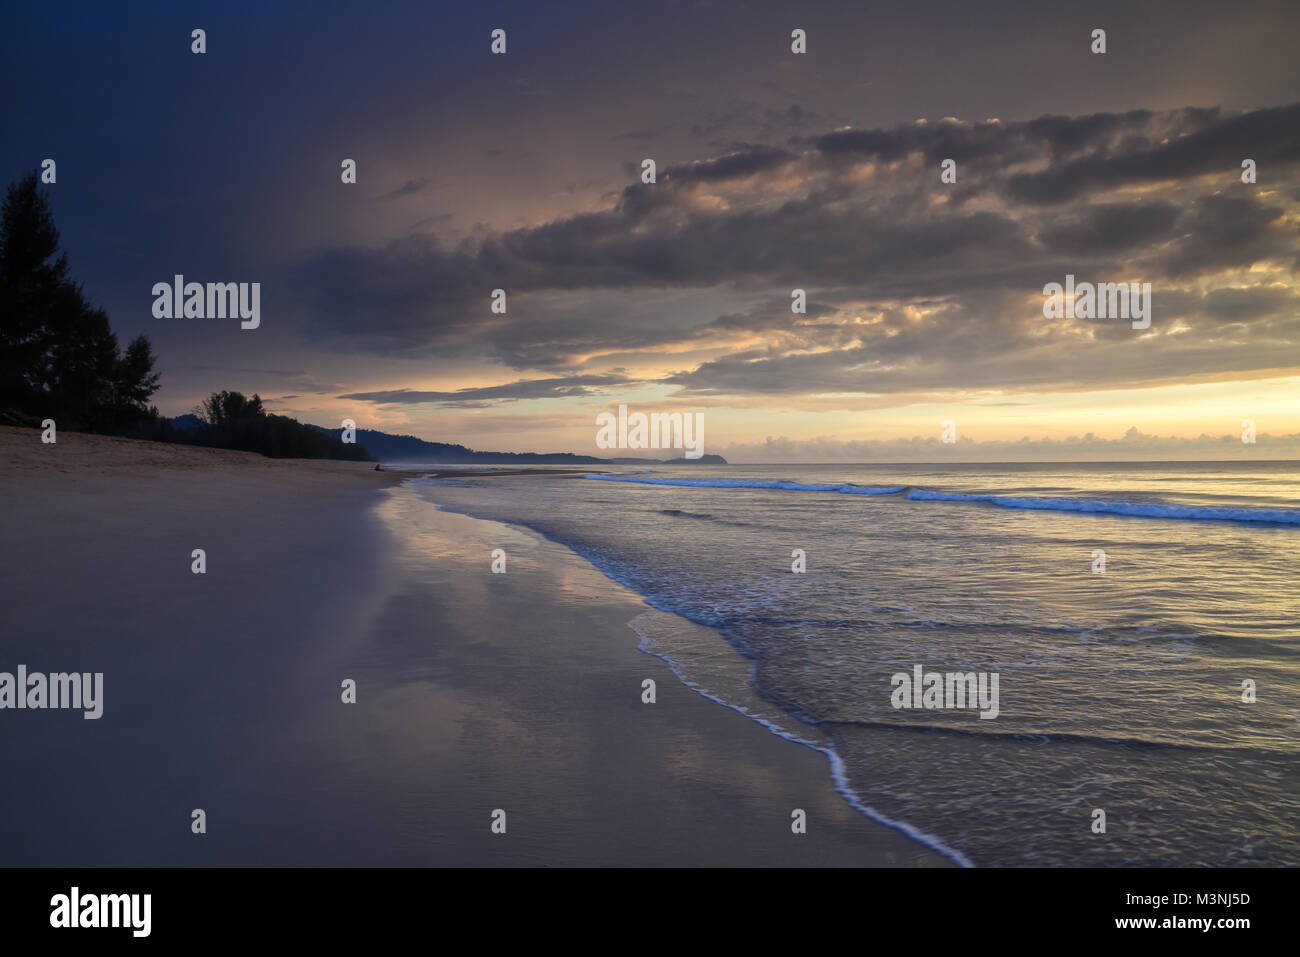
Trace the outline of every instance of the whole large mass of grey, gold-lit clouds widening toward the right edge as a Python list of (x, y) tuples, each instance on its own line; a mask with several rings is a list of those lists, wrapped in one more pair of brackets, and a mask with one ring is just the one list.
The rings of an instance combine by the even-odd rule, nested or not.
[[(632, 168), (604, 209), (455, 246), (335, 248), (299, 280), (324, 328), (377, 352), (560, 371), (764, 337), (666, 380), (708, 395), (1070, 389), (1277, 368), (1294, 354), (1294, 302), (1244, 270), (1300, 255), (1288, 225), (1297, 120), (1300, 104), (1131, 111), (741, 144), (663, 168), (653, 185)], [(1247, 156), (1269, 190), (1240, 182)], [(956, 186), (940, 183), (942, 159), (957, 160)], [(1154, 330), (1199, 333), (1135, 345), (1127, 325), (1045, 324), (1041, 289), (1066, 273), (1152, 282)], [(1260, 287), (1235, 291), (1245, 285)], [(504, 316), (488, 311), (498, 287), (511, 296)], [(790, 315), (792, 287), (815, 296), (807, 316)], [(590, 306), (690, 289), (718, 290), (729, 308), (688, 322)], [(1217, 339), (1234, 320), (1268, 334)], [(447, 400), (437, 395), (420, 400)]]

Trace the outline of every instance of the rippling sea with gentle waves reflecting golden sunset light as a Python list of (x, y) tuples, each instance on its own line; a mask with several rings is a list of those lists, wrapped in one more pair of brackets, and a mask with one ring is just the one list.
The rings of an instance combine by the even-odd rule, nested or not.
[(956, 863), (1300, 865), (1300, 463), (402, 468), (644, 596), (629, 640)]

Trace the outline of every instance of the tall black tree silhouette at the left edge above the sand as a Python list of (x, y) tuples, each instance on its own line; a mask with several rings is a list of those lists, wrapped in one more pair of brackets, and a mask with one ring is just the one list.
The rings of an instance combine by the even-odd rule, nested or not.
[(0, 411), (122, 432), (151, 415), (153, 363), (144, 335), (118, 348), (108, 313), (69, 276), (36, 174), (10, 183), (0, 216)]

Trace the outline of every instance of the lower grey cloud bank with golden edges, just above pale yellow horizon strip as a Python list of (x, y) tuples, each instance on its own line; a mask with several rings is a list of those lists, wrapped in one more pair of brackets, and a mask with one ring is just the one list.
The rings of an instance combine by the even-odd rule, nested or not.
[[(1213, 378), (1294, 365), (1300, 333), (1290, 289), (1167, 289), (1156, 322), (1174, 316), (1191, 334), (1135, 337), (1128, 324), (1045, 320), (1011, 294), (983, 290), (930, 303), (920, 317), (883, 308), (864, 324), (785, 324), (798, 348), (753, 348), (671, 376), (684, 395), (892, 394), (945, 387), (1072, 391), (1171, 378)], [(1209, 316), (1213, 326), (1199, 322)], [(728, 317), (729, 319), (729, 317)], [(1258, 324), (1249, 338), (1219, 337), (1223, 322)]]

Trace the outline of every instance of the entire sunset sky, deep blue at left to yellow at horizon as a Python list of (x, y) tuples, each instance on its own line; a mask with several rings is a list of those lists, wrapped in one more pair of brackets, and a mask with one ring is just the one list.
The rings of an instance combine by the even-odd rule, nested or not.
[[(165, 413), (235, 389), (482, 450), (598, 454), (625, 404), (703, 413), (733, 462), (1300, 458), (1295, 3), (3, 20), (0, 172), (56, 160), (72, 272), (153, 342)], [(260, 282), (259, 328), (156, 317), (178, 273)], [(1149, 328), (1045, 316), (1067, 274), (1150, 283)]]

